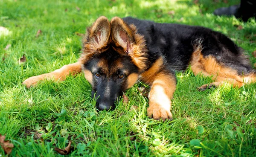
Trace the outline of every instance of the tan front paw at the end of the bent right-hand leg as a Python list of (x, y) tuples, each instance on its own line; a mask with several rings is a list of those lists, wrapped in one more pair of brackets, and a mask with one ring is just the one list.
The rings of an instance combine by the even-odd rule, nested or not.
[(170, 109), (163, 108), (161, 105), (151, 105), (148, 107), (148, 117), (156, 120), (163, 119), (163, 121), (172, 120), (172, 113)]

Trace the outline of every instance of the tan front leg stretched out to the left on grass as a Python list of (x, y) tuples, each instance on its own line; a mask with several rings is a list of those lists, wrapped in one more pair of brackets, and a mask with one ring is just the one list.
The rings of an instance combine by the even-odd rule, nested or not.
[(46, 73), (38, 76), (33, 76), (28, 79), (26, 79), (23, 84), (26, 85), (27, 88), (31, 86), (35, 86), (38, 84), (38, 81), (44, 80), (44, 79), (53, 79), (55, 81), (64, 81), (66, 79), (66, 76), (71, 74), (71, 75), (76, 75), (77, 73), (81, 72), (81, 63), (76, 62), (73, 64), (68, 64), (64, 65), (58, 70), (55, 70), (51, 73)]

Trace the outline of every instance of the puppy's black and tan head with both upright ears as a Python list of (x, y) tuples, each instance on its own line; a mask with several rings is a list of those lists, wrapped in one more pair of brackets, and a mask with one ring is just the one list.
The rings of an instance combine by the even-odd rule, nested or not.
[(87, 29), (79, 61), (92, 85), (92, 97), (97, 98), (96, 107), (114, 109), (118, 96), (132, 87), (147, 67), (145, 41), (134, 25), (119, 17), (109, 21), (102, 16)]

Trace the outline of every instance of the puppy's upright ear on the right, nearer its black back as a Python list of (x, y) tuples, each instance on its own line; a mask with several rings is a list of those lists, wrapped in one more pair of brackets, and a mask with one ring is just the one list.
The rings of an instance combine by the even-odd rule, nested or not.
[(127, 54), (132, 51), (136, 29), (126, 24), (121, 18), (111, 19), (111, 38), (117, 47), (122, 47)]

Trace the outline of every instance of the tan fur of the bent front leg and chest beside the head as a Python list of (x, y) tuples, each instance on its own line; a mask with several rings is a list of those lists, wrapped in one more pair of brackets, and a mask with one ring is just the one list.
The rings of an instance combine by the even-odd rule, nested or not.
[(171, 99), (176, 89), (176, 79), (172, 74), (159, 71), (164, 65), (163, 58), (158, 58), (151, 68), (142, 73), (142, 81), (151, 86), (149, 92), (148, 116), (154, 119), (172, 119)]

